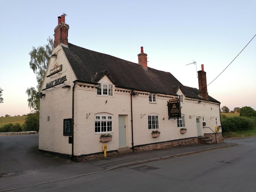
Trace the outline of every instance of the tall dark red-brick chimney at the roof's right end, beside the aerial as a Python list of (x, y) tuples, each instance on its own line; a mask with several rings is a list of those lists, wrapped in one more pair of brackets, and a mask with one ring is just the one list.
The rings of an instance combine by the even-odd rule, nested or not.
[(204, 65), (201, 65), (202, 70), (197, 71), (198, 73), (198, 95), (203, 97), (205, 100), (209, 100), (209, 95), (207, 92), (207, 83), (206, 83), (206, 72), (204, 71)]

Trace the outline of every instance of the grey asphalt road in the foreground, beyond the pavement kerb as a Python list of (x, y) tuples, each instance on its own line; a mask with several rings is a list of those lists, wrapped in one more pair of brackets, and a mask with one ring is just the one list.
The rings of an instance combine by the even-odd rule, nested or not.
[[(226, 140), (226, 142), (234, 142), (238, 145), (13, 191), (255, 192), (256, 137)], [(67, 165), (63, 162), (63, 174), (73, 166), (80, 165), (80, 163)], [(69, 169), (66, 169), (68, 166)], [(84, 171), (83, 169), (81, 172)]]

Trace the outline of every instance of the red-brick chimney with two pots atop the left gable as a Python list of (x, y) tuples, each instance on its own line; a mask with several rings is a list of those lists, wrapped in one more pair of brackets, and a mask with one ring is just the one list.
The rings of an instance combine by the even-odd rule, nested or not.
[(54, 48), (60, 44), (68, 45), (69, 25), (65, 23), (65, 15), (58, 17), (58, 26), (54, 29)]

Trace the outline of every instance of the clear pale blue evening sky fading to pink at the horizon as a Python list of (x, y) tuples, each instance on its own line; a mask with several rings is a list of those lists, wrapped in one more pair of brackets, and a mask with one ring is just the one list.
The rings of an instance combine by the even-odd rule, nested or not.
[[(32, 47), (53, 38), (62, 13), (68, 42), (138, 63), (140, 47), (148, 67), (172, 73), (198, 88), (197, 70), (207, 84), (216, 78), (256, 34), (255, 0), (164, 1), (0, 0), (0, 116), (29, 113), (28, 87), (36, 87), (29, 68)], [(196, 61), (196, 65), (190, 64)], [(220, 107), (256, 109), (256, 37), (210, 84)]]

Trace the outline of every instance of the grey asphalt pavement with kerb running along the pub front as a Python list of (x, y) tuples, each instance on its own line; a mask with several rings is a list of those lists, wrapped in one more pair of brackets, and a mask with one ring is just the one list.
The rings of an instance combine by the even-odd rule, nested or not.
[[(0, 176), (0, 191), (11, 191), (45, 183), (53, 183), (98, 172), (106, 172), (120, 167), (144, 164), (151, 161), (175, 158), (178, 156), (190, 155), (218, 148), (232, 147), (235, 145), (237, 145), (237, 143), (231, 142), (211, 145), (195, 144), (148, 151), (136, 151), (128, 154), (96, 158), (79, 163), (67, 161), (64, 164), (55, 164), (54, 166), (48, 166), (37, 170), (34, 169), (18, 174), (2, 175)], [(60, 161), (63, 160), (60, 159)]]

